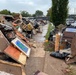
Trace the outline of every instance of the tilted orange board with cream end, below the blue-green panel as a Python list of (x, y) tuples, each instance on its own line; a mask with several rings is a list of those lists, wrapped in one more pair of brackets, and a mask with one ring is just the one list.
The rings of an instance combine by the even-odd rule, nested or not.
[(13, 58), (15, 61), (25, 65), (26, 64), (26, 55), (23, 54), (20, 50), (9, 45), (5, 50), (4, 53)]

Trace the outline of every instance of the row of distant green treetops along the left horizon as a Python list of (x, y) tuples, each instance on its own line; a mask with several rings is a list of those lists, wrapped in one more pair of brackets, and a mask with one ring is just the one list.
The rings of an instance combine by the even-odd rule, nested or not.
[(43, 12), (41, 10), (36, 10), (35, 14), (31, 15), (31, 14), (29, 14), (29, 12), (24, 11), (24, 10), (20, 11), (20, 13), (16, 13), (16, 12), (11, 12), (11, 11), (9, 11), (7, 9), (4, 9), (4, 10), (0, 11), (0, 14), (12, 15), (12, 16), (15, 16), (17, 14), (21, 14), (23, 17), (31, 17), (31, 16), (41, 17), (41, 16), (43, 16)]

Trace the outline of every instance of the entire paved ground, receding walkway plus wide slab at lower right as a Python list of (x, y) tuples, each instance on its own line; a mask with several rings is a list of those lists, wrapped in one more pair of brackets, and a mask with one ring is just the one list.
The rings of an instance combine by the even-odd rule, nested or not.
[(63, 70), (67, 67), (65, 62), (50, 56), (50, 52), (44, 51), (44, 36), (47, 33), (48, 25), (43, 27), (42, 34), (33, 37), (37, 47), (32, 48), (31, 55), (27, 59), (25, 66), (26, 75), (34, 75), (37, 70), (43, 71), (48, 75), (64, 75)]

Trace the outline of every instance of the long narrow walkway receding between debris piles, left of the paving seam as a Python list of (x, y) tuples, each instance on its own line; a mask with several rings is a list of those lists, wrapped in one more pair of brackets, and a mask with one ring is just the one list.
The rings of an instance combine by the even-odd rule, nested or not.
[(31, 55), (27, 60), (25, 66), (26, 75), (33, 75), (37, 70), (43, 71), (44, 61), (45, 61), (45, 51), (43, 42), (45, 40), (45, 35), (47, 33), (48, 24), (42, 27), (42, 33), (38, 33), (33, 37), (36, 41), (34, 42), (37, 47), (32, 48)]

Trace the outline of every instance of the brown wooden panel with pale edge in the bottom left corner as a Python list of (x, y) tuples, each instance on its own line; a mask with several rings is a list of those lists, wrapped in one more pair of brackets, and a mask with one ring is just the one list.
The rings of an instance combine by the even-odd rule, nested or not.
[(0, 60), (0, 71), (13, 75), (26, 75), (22, 65), (3, 60)]

